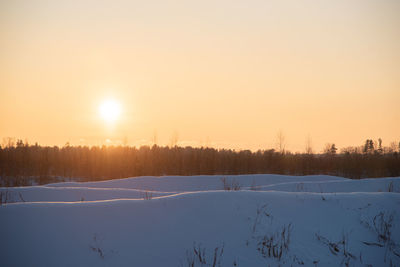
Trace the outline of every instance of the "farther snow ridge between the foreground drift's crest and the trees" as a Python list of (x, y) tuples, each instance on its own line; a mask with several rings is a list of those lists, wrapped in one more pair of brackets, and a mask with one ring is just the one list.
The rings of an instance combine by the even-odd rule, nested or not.
[(0, 192), (4, 194), (7, 192), (8, 202), (71, 202), (120, 198), (144, 199), (183, 192), (224, 190), (224, 187), (232, 185), (243, 190), (267, 190), (265, 188), (279, 186), (281, 183), (329, 181), (348, 181), (348, 179), (334, 176), (283, 175), (136, 177), (101, 182), (66, 182), (45, 186), (0, 188)]

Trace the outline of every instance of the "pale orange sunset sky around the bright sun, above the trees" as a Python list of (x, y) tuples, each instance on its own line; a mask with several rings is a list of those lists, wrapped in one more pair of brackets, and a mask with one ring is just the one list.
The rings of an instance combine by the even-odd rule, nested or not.
[(0, 138), (399, 142), (398, 14), (397, 0), (0, 0)]

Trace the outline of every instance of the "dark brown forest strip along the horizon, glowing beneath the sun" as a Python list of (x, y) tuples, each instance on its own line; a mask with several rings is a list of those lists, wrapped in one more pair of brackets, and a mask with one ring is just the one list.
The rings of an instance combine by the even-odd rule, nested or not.
[(57, 178), (80, 181), (161, 175), (274, 173), (327, 174), (352, 179), (400, 176), (398, 147), (366, 140), (337, 152), (291, 153), (274, 149), (235, 151), (179, 146), (40, 146), (18, 140), (0, 146), (0, 186), (43, 184)]

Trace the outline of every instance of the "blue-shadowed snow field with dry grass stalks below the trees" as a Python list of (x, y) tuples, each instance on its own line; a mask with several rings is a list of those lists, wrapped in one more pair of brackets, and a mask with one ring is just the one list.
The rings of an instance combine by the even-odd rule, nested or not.
[(0, 266), (400, 266), (399, 177), (221, 178), (0, 188)]

